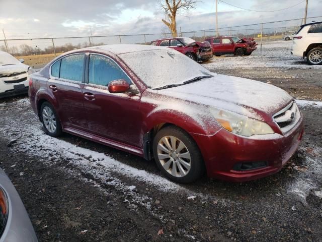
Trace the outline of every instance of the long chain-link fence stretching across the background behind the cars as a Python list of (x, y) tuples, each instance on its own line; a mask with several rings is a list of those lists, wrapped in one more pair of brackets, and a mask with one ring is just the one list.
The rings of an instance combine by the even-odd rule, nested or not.
[[(321, 17), (307, 18), (322, 21)], [(238, 36), (252, 37), (263, 44), (272, 40), (283, 40), (286, 35), (293, 34), (302, 24), (302, 19), (286, 20), (279, 22), (268, 22), (244, 26), (234, 26), (208, 30), (197, 30), (179, 33), (196, 41), (204, 41), (206, 37), (216, 36)], [(272, 25), (283, 25), (282, 27), (270, 27)], [(284, 27), (288, 25), (288, 27)], [(170, 33), (163, 34), (135, 34), (135, 35), (113, 35), (113, 36), (85, 36), (66, 38), (34, 38), (34, 39), (7, 39), (0, 40), (0, 50), (7, 51), (17, 58), (24, 58), (25, 63), (32, 67), (41, 67), (50, 62), (59, 54), (78, 48), (106, 44), (149, 44), (160, 38), (171, 37)], [(262, 37), (261, 37), (262, 36)]]

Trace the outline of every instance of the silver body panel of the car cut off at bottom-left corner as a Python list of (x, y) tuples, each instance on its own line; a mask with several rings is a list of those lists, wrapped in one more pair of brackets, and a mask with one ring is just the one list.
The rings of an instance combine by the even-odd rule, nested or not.
[(29, 241), (37, 242), (37, 236), (30, 222), (24, 204), (6, 173), (0, 168), (0, 186), (8, 197), (9, 215), (0, 242)]

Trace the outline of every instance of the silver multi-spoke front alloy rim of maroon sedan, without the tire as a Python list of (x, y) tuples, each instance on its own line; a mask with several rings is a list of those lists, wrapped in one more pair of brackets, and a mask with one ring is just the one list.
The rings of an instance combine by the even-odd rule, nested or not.
[(165, 136), (157, 144), (157, 157), (163, 168), (175, 177), (186, 176), (191, 168), (187, 146), (174, 136)]

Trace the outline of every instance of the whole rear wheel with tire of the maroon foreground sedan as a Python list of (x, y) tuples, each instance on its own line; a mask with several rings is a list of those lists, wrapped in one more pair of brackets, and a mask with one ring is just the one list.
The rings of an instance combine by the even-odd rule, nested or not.
[(58, 137), (61, 135), (61, 125), (54, 107), (49, 102), (44, 102), (40, 107), (41, 123), (47, 135)]

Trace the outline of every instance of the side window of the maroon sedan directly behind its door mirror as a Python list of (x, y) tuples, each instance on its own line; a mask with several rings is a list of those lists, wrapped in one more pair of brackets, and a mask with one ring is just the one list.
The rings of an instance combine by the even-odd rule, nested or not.
[(124, 79), (131, 84), (124, 71), (112, 59), (97, 55), (90, 55), (89, 83), (108, 86), (111, 81)]

